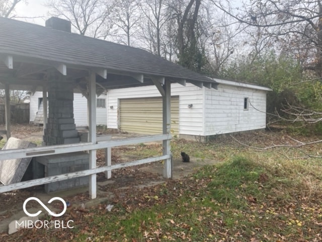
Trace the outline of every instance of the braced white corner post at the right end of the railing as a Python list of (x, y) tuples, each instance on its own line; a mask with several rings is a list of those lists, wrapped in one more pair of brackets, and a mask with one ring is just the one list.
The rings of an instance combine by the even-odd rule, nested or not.
[[(163, 134), (171, 133), (171, 83), (169, 80), (165, 80), (163, 85), (165, 95), (162, 97), (163, 102)], [(171, 140), (163, 141), (163, 154), (171, 155)], [(165, 178), (172, 177), (171, 158), (165, 160), (163, 176)]]

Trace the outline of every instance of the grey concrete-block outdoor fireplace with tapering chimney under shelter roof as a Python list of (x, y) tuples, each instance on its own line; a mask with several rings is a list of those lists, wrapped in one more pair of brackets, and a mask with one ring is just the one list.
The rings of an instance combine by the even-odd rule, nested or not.
[[(52, 70), (47, 74), (48, 120), (44, 130), (43, 145), (63, 145), (79, 143), (79, 136), (73, 118), (72, 80)], [(87, 108), (87, 107), (84, 107)], [(45, 155), (33, 160), (33, 178), (55, 176), (89, 169), (89, 154), (74, 152)], [(76, 177), (46, 184), (47, 193), (89, 184), (88, 176)]]

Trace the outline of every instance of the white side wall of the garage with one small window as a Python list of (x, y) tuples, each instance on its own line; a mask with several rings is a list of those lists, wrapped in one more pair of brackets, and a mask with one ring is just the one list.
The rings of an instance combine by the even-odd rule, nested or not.
[[(204, 135), (265, 128), (266, 93), (265, 90), (222, 84), (218, 85), (218, 90), (206, 88)], [(249, 98), (248, 110), (244, 110), (246, 97)]]

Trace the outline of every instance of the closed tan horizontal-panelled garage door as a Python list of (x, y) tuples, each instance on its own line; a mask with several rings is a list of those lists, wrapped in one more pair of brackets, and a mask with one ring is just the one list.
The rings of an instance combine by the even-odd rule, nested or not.
[[(162, 97), (120, 99), (119, 107), (122, 132), (162, 134)], [(171, 134), (179, 135), (179, 96), (171, 97)]]

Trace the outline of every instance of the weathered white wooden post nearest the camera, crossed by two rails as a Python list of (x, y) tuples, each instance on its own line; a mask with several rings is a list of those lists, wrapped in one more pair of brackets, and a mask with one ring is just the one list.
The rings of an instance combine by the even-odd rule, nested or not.
[[(96, 74), (90, 71), (89, 78), (89, 142), (96, 143)], [(90, 169), (96, 168), (96, 150), (90, 150)], [(90, 177), (90, 198), (96, 198), (96, 174)]]

